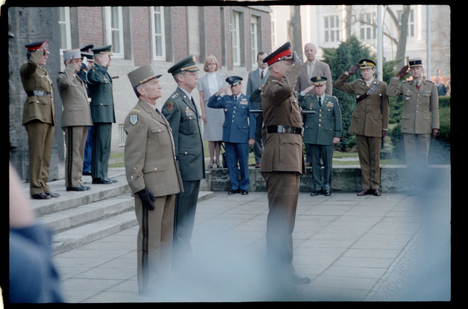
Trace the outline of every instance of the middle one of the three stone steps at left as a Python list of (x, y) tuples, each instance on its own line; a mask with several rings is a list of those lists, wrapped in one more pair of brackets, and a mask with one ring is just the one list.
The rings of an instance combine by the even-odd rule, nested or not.
[(49, 213), (38, 217), (37, 221), (44, 223), (55, 233), (59, 233), (89, 222), (94, 222), (112, 215), (133, 210), (133, 208), (134, 199), (130, 194), (125, 193), (117, 197), (77, 206), (56, 213)]

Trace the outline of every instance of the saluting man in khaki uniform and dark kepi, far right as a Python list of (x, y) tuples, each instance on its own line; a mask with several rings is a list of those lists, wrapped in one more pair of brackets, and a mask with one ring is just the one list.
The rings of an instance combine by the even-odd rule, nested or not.
[(439, 131), (439, 96), (436, 85), (423, 78), (422, 59), (409, 59), (408, 63), (413, 80), (400, 83), (400, 79), (408, 70), (408, 66), (403, 66), (390, 81), (387, 95), (403, 96), (401, 132), (405, 144), (409, 180), (414, 184), (418, 180), (419, 173), (427, 169), (431, 136), (434, 139)]

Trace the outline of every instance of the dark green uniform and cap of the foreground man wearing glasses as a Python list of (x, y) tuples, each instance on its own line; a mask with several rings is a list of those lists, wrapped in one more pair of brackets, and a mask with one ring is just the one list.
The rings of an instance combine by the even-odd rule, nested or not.
[[(169, 68), (168, 73), (196, 72), (195, 56), (187, 57)], [(183, 180), (183, 193), (176, 197), (174, 219), (173, 262), (191, 253), (192, 237), (197, 208), (200, 179), (205, 178), (205, 155), (198, 122), (199, 113), (193, 97), (190, 98), (180, 87), (169, 96), (162, 107), (174, 137), (176, 156)]]

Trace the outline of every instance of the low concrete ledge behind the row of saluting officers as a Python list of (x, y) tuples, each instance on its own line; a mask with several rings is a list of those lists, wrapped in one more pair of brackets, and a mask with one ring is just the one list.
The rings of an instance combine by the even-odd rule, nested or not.
[[(430, 177), (450, 177), (450, 165), (429, 165)], [(337, 165), (332, 171), (331, 190), (333, 192), (358, 192), (362, 190), (361, 168), (359, 165)], [(380, 165), (380, 190), (382, 192), (403, 192), (409, 186), (406, 180), (406, 165)], [(229, 191), (231, 189), (227, 169), (210, 169), (206, 178), (206, 186), (211, 191)], [(323, 167), (322, 167), (323, 175)], [(239, 175), (240, 177), (240, 175)], [(252, 192), (265, 192), (265, 181), (260, 169), (249, 167), (250, 188)], [(300, 192), (310, 192), (313, 189), (312, 168), (306, 168), (306, 173), (300, 176)]]

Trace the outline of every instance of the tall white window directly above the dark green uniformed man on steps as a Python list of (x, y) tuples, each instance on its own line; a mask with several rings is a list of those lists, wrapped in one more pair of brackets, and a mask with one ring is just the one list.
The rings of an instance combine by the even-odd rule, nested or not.
[(106, 44), (112, 44), (112, 54), (115, 58), (124, 58), (122, 7), (105, 7), (105, 12)]

